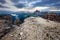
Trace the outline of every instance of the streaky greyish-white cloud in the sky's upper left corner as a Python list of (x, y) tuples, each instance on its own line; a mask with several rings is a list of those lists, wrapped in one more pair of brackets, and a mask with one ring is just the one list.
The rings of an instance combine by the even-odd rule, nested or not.
[(18, 8), (14, 6), (14, 3), (11, 2), (11, 0), (5, 0), (5, 1), (6, 1), (5, 4), (0, 3), (0, 5), (8, 7), (8, 8), (0, 8), (0, 10), (5, 10), (5, 11), (7, 10), (7, 11), (14, 11), (14, 12), (18, 10)]

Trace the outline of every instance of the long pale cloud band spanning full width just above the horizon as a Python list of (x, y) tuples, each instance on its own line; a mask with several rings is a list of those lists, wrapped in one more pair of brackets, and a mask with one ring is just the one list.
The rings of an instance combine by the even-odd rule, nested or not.
[(34, 12), (35, 10), (39, 11), (60, 11), (55, 7), (34, 7), (34, 8), (20, 8), (20, 9), (6, 9), (6, 8), (0, 8), (1, 10), (9, 10), (13, 12), (18, 12), (18, 11), (24, 11), (24, 12)]

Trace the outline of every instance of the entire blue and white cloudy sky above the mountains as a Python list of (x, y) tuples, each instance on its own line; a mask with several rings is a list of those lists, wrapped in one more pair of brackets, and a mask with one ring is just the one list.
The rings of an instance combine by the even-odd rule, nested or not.
[(0, 10), (60, 11), (60, 0), (0, 0)]

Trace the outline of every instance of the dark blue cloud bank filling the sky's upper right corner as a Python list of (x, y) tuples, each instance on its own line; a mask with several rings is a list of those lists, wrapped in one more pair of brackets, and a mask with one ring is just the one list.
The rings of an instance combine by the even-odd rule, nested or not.
[(37, 6), (60, 6), (60, 0), (42, 1), (42, 2), (35, 3), (33, 5), (34, 5), (34, 7), (37, 7)]

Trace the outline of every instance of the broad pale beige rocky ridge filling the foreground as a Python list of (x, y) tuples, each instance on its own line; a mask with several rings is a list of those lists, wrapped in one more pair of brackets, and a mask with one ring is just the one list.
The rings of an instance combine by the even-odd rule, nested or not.
[(2, 40), (60, 40), (60, 23), (41, 17), (30, 17)]

